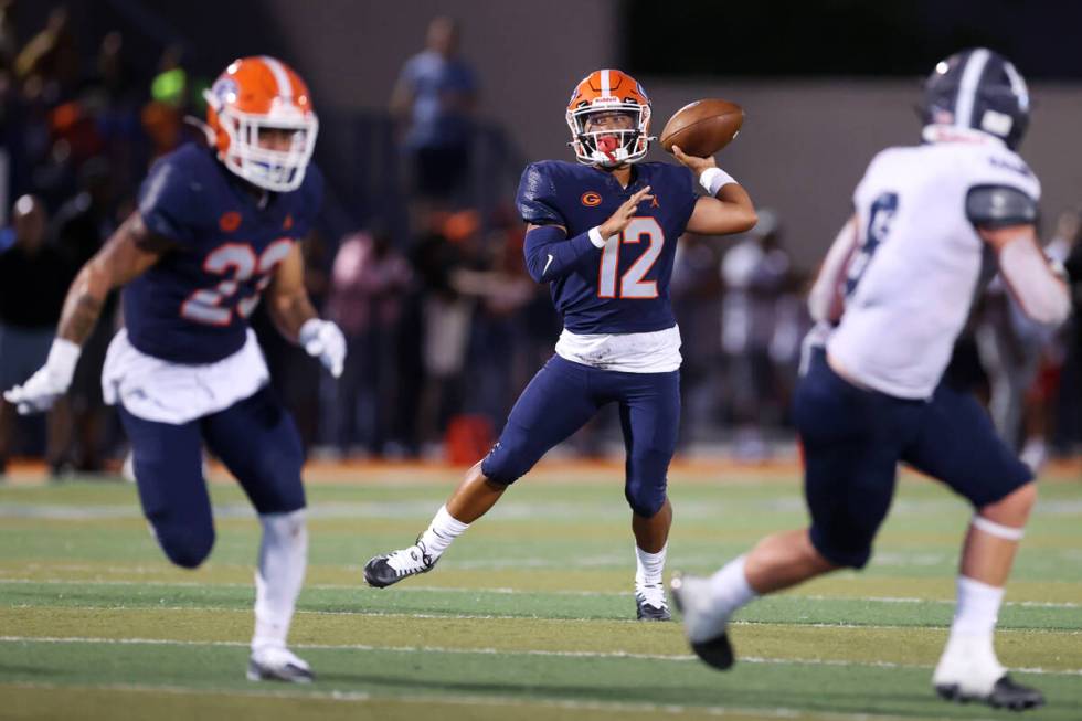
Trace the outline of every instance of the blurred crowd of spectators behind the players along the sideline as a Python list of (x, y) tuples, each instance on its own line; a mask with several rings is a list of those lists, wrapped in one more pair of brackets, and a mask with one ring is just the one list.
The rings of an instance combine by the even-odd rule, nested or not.
[[(132, 212), (149, 163), (201, 141), (185, 117), (203, 117), (200, 92), (213, 79), (189, 71), (177, 47), (134, 72), (118, 32), (87, 56), (78, 50), (87, 39), (77, 41), (63, 8), (33, 36), (17, 38), (10, 7), (0, 2), (3, 388), (44, 361), (68, 283)], [(473, 463), (561, 328), (548, 288), (523, 268), (513, 184), (478, 198), (471, 180), (481, 162), (475, 116), (484, 77), (459, 59), (454, 21), (437, 18), (422, 34), (424, 47), (386, 99), (407, 222), (346, 233), (325, 226), (306, 244), (309, 293), (349, 340), (344, 374), (330, 379), (265, 317), (254, 318), (273, 382), (314, 453)], [(1076, 213), (1046, 231), (1050, 254), (1082, 261)], [(680, 240), (671, 293), (685, 343), (686, 445), (759, 460), (792, 444), (788, 402), (815, 268), (794, 267), (786, 245), (804, 240), (785, 225), (784, 209), (770, 208), (743, 236)], [(125, 447), (99, 374), (118, 312), (114, 298), (71, 393), (47, 418), (19, 418), (0, 401), (0, 473), (12, 456), (44, 457), (56, 475), (115, 468)], [(994, 283), (950, 378), (987, 400), (997, 427), (1036, 466), (1078, 449), (1080, 368), (1076, 320), (1036, 327)], [(603, 414), (571, 446), (598, 454), (616, 443), (615, 415)]]

